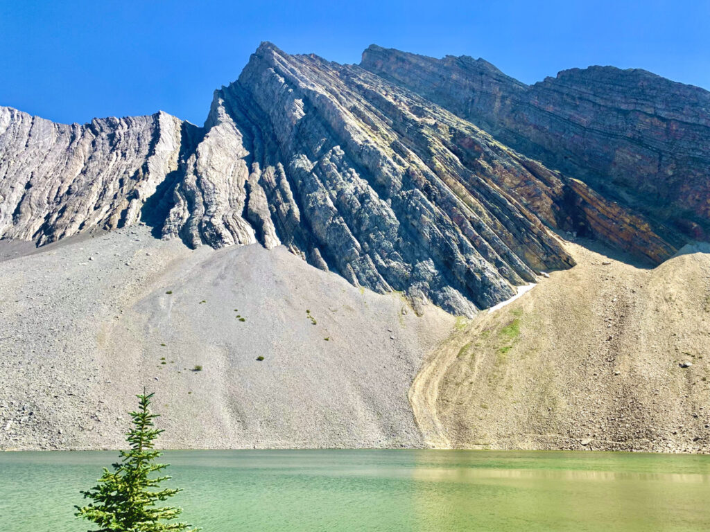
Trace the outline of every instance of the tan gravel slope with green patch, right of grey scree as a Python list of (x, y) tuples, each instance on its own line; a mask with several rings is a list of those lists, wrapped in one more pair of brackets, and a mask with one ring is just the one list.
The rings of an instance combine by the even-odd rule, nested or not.
[(428, 445), (710, 452), (710, 248), (647, 270), (584, 244), (422, 368)]

